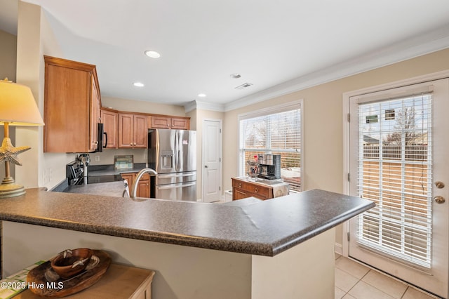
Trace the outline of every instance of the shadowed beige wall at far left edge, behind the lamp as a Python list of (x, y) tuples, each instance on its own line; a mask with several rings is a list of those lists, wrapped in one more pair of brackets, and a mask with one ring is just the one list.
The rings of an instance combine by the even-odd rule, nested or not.
[[(0, 30), (0, 80), (6, 77), (15, 82), (15, 65), (17, 57), (17, 36)], [(0, 126), (0, 140), (4, 138), (4, 128)], [(15, 145), (15, 127), (9, 128), (9, 138)], [(15, 177), (15, 166), (10, 164), (11, 175)], [(5, 164), (0, 164), (0, 182), (5, 178)]]

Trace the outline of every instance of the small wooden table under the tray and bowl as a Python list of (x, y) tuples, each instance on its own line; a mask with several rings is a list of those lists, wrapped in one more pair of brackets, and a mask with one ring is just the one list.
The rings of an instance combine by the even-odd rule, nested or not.
[[(109, 299), (109, 298), (132, 298), (151, 299), (152, 281), (154, 271), (128, 267), (124, 265), (111, 264), (104, 277), (93, 286), (74, 293), (64, 298), (70, 299)], [(14, 297), (20, 299), (38, 299), (39, 295), (29, 290), (23, 291)]]

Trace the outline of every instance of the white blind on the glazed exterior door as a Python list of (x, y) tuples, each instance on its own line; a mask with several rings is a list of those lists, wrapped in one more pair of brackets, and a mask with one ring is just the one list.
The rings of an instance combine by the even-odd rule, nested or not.
[(358, 243), (406, 263), (431, 265), (430, 92), (358, 105), (358, 195), (375, 208)]

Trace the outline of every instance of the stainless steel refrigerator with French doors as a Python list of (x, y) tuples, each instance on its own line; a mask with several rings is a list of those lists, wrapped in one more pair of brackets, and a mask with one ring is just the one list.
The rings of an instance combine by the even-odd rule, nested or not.
[(148, 166), (152, 179), (150, 197), (196, 201), (196, 131), (148, 131)]

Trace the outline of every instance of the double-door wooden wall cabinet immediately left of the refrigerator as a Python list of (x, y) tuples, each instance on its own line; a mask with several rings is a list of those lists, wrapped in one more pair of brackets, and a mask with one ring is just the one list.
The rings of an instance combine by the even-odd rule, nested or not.
[(146, 148), (147, 139), (146, 115), (119, 113), (119, 148)]

